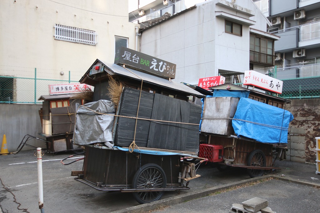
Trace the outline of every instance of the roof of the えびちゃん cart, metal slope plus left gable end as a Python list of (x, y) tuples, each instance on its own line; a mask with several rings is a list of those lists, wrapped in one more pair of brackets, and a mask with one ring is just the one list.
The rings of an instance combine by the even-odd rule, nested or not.
[[(199, 98), (205, 97), (200, 92), (197, 92), (196, 90), (193, 90), (192, 88), (190, 88), (187, 85), (184, 85), (182, 83), (172, 82), (172, 81), (169, 81), (168, 79), (164, 79), (164, 78), (161, 78), (156, 75), (151, 75), (151, 74), (148, 74), (145, 72), (134, 70), (129, 67), (124, 68), (121, 65), (103, 62), (99, 59), (96, 59), (95, 62), (92, 64), (92, 66), (94, 66), (97, 63), (101, 63), (102, 65), (104, 65), (104, 71), (106, 71), (110, 75), (121, 75), (123, 77), (135, 79), (138, 81), (141, 81), (141, 79), (142, 79), (143, 82), (150, 83), (150, 84), (153, 84), (156, 86), (160, 86), (160, 87), (163, 87), (163, 88), (166, 88), (169, 90), (187, 93), (188, 95), (194, 95)], [(92, 66), (90, 66), (88, 71), (80, 79), (80, 81), (79, 81), (80, 83), (86, 83), (86, 84), (94, 86), (95, 83), (99, 82), (99, 81), (95, 81), (94, 79), (92, 79), (92, 77), (89, 77), (90, 70), (91, 70)]]

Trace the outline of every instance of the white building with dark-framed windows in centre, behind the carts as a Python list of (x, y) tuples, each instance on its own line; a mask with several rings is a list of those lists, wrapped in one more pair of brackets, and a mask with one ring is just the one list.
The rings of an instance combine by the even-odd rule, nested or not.
[(140, 6), (129, 17), (140, 24), (141, 52), (177, 64), (173, 81), (197, 85), (199, 78), (222, 75), (241, 83), (245, 70), (268, 74), (274, 66), (279, 37), (267, 32), (271, 23), (251, 0)]

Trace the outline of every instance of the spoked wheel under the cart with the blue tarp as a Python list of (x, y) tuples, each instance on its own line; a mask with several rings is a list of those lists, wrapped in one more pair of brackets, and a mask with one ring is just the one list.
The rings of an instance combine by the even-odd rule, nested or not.
[[(255, 149), (249, 154), (247, 165), (265, 167), (266, 156), (260, 149)], [(260, 177), (263, 175), (264, 170), (248, 169), (248, 173), (250, 177)]]

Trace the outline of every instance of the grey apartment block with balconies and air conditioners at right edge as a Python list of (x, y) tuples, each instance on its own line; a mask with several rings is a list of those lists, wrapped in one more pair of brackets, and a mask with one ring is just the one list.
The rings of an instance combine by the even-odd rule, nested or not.
[(275, 42), (276, 76), (285, 80), (286, 97), (319, 98), (320, 1), (254, 2), (272, 23), (268, 32), (280, 36)]

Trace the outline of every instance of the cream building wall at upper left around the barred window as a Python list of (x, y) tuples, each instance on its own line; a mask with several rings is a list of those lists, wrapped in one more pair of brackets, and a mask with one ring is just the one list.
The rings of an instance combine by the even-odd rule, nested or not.
[[(78, 81), (97, 58), (114, 61), (115, 35), (135, 49), (128, 0), (0, 1), (0, 75)], [(54, 39), (54, 25), (95, 31), (95, 46)], [(24, 67), (24, 68), (19, 68)]]

